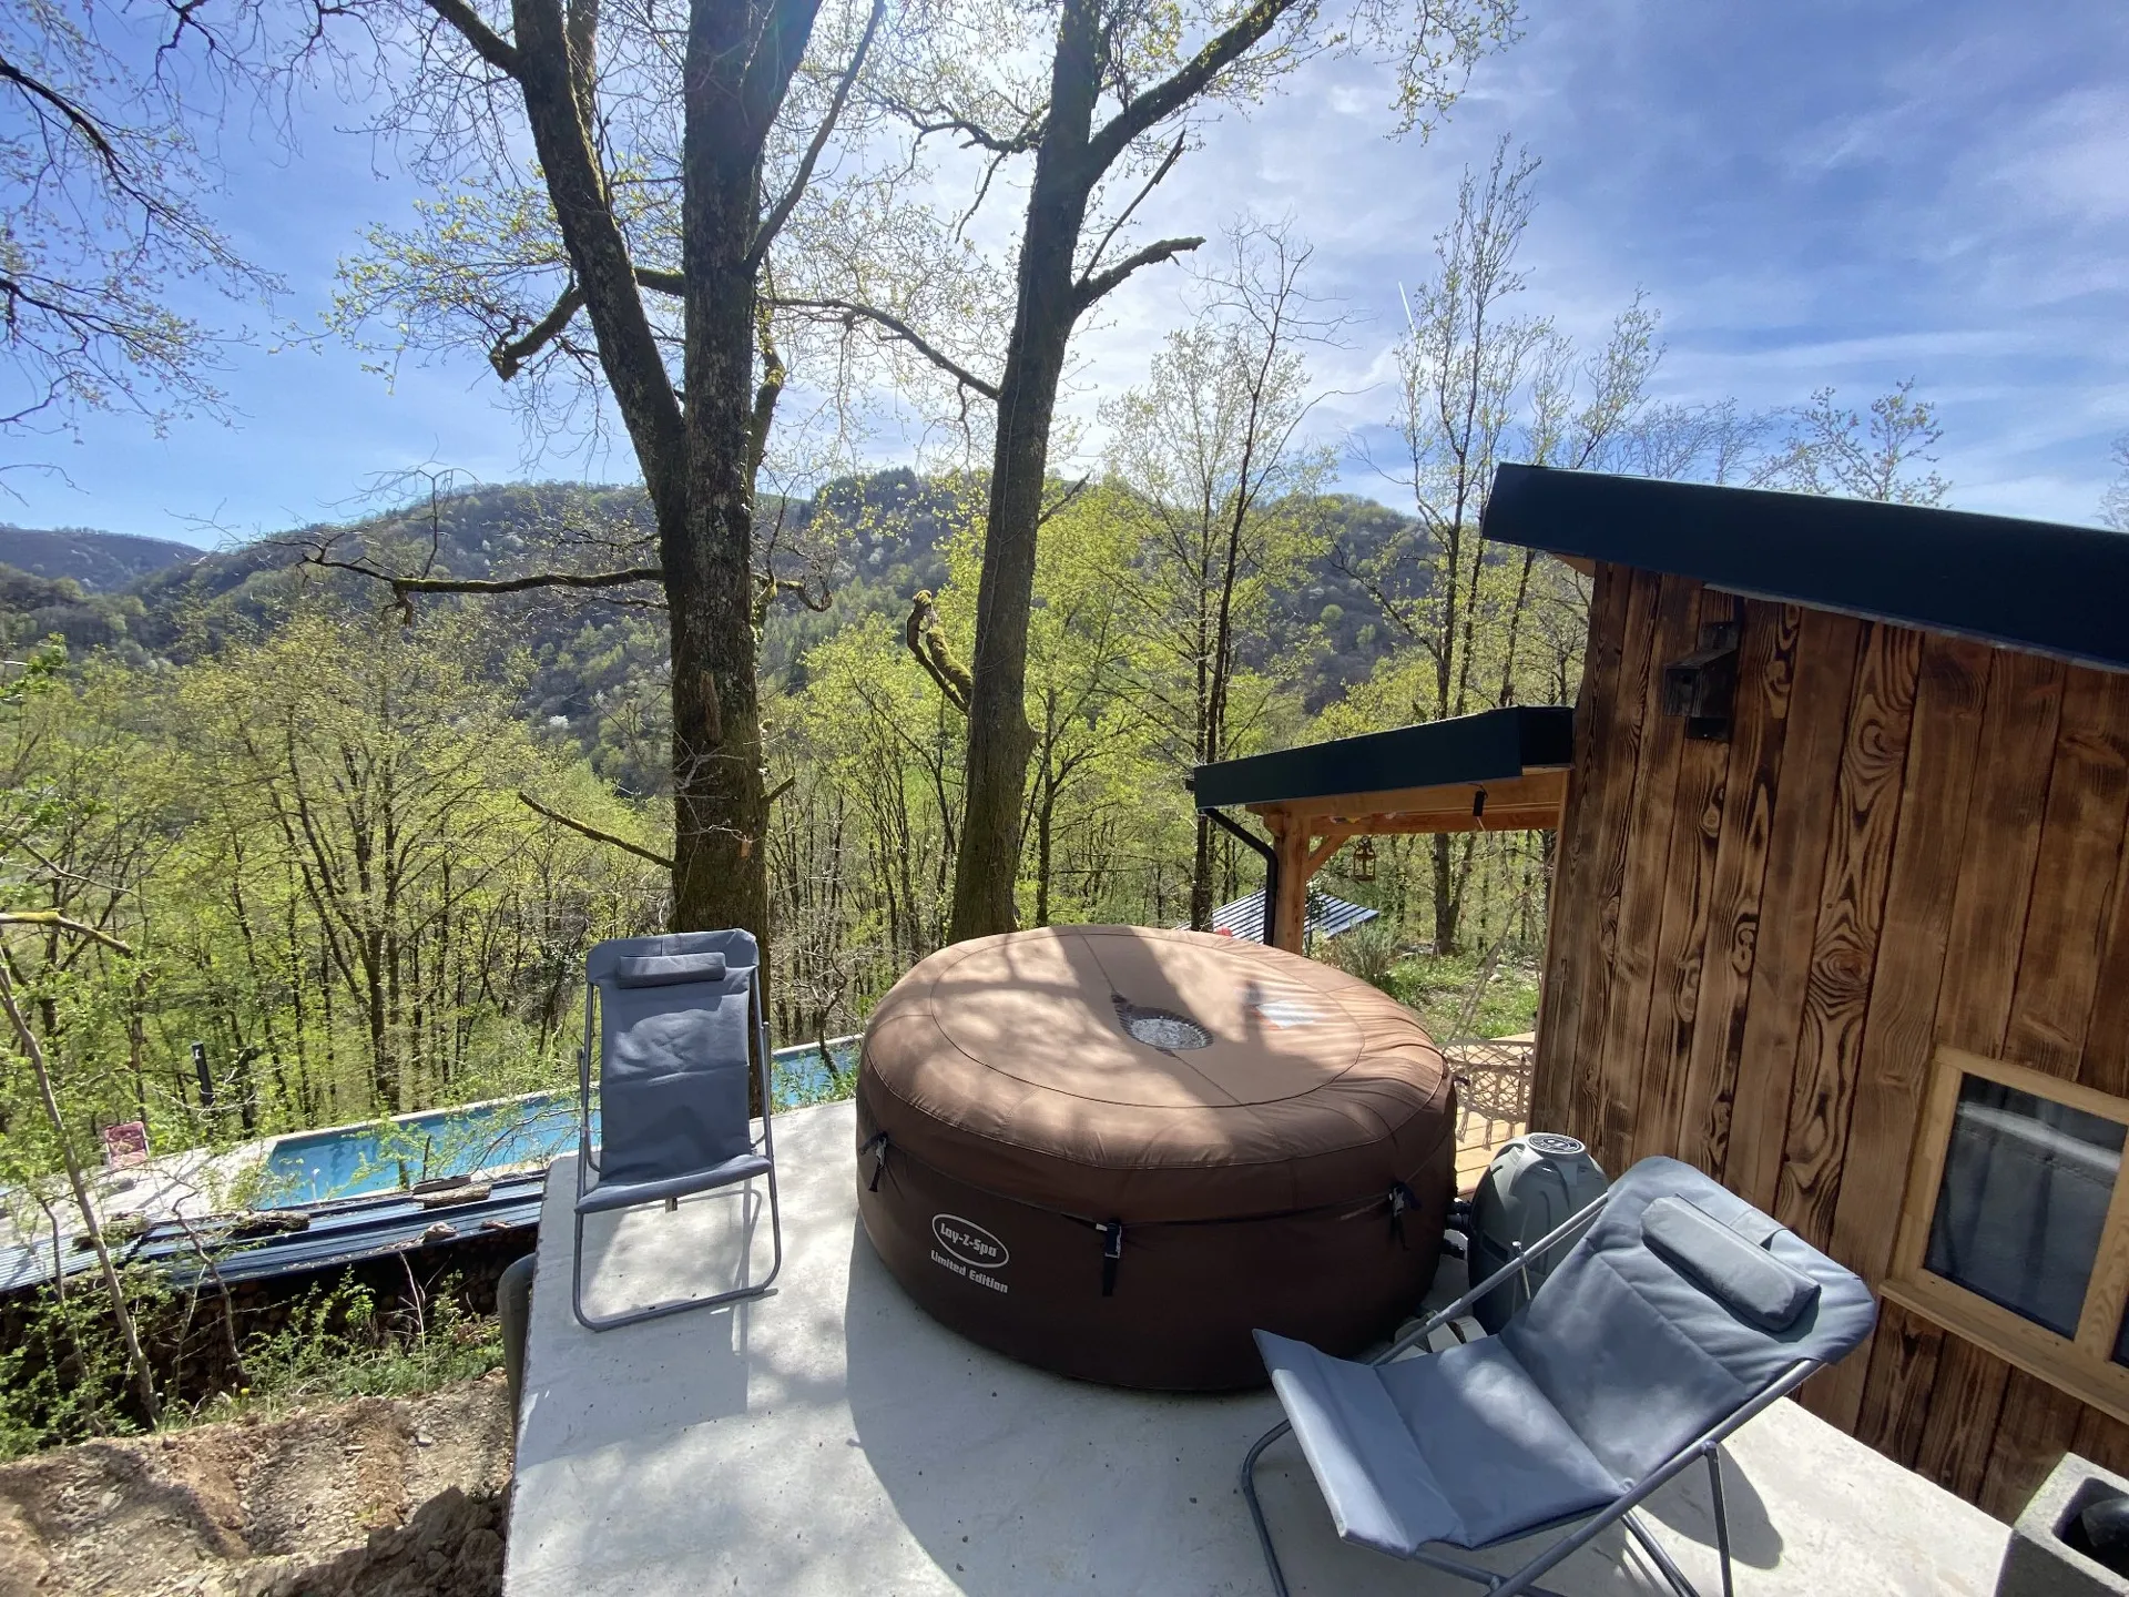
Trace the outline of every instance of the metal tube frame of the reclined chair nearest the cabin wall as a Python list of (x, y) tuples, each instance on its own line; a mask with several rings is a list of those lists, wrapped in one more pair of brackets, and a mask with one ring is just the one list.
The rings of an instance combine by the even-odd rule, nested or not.
[[(1446, 1310), (1429, 1316), (1422, 1324), (1401, 1335), (1386, 1350), (1369, 1359), (1369, 1363), (1386, 1365), (1407, 1348), (1422, 1344), (1429, 1335), (1435, 1333), (1435, 1329), (1454, 1320), (1458, 1314), (1463, 1314), (1482, 1297), (1486, 1297), (1486, 1293), (1490, 1293), (1495, 1286), (1505, 1282), (1509, 1275), (1516, 1275), (1518, 1271), (1524, 1273), (1524, 1288), (1529, 1293), (1529, 1273), (1526, 1273), (1529, 1265), (1537, 1261), (1541, 1254), (1561, 1246), (1563, 1241), (1578, 1239), (1582, 1231), (1588, 1229), (1588, 1224), (1595, 1222), (1595, 1218), (1603, 1212), (1603, 1205), (1610, 1201), (1610, 1197), (1612, 1195), (1607, 1192), (1605, 1197), (1586, 1205), (1578, 1214), (1569, 1216), (1558, 1229), (1546, 1233), (1535, 1244), (1531, 1244), (1529, 1250), (1518, 1248), (1516, 1258), (1507, 1261), (1501, 1269), (1497, 1269), (1492, 1275), (1482, 1280), (1469, 1293), (1458, 1297)], [(1656, 1537), (1641, 1522), (1641, 1516), (1635, 1510), (1650, 1497), (1650, 1493), (1669, 1484), (1680, 1473), (1690, 1469), (1695, 1461), (1705, 1461), (1707, 1486), (1714, 1497), (1714, 1510), (1716, 1510), (1716, 1554), (1722, 1561), (1722, 1597), (1735, 1597), (1735, 1582), (1731, 1576), (1729, 1512), (1722, 1501), (1722, 1442), (1729, 1439), (1739, 1427), (1756, 1418), (1761, 1412), (1771, 1407), (1778, 1399), (1797, 1390), (1797, 1386), (1801, 1386), (1818, 1367), (1820, 1363), (1816, 1359), (1799, 1359), (1795, 1365), (1788, 1365), (1780, 1376), (1761, 1386), (1759, 1393), (1754, 1393), (1742, 1407), (1729, 1414), (1720, 1425), (1712, 1427), (1703, 1435), (1688, 1442), (1684, 1448), (1665, 1459), (1663, 1465), (1658, 1465), (1646, 1478), (1635, 1482), (1631, 1491), (1620, 1493), (1603, 1508), (1597, 1508), (1586, 1516), (1571, 1514), (1565, 1520), (1554, 1520), (1550, 1525), (1533, 1525), (1524, 1531), (1516, 1531), (1514, 1535), (1488, 1542), (1486, 1544), (1488, 1548), (1505, 1546), (1507, 1542), (1522, 1542), (1524, 1537), (1531, 1535), (1544, 1535), (1546, 1531), (1554, 1531), (1567, 1525), (1580, 1525), (1580, 1529), (1575, 1529), (1571, 1535), (1561, 1537), (1558, 1542), (1548, 1546), (1544, 1552), (1539, 1552), (1535, 1559), (1524, 1563), (1520, 1569), (1514, 1569), (1512, 1574), (1503, 1576), (1495, 1569), (1486, 1569), (1475, 1563), (1465, 1563), (1463, 1559), (1450, 1557), (1446, 1552), (1426, 1552), (1424, 1548), (1420, 1552), (1414, 1552), (1412, 1561), (1422, 1563), (1429, 1569), (1439, 1569), (1441, 1574), (1456, 1576), (1458, 1580), (1469, 1580), (1478, 1586), (1484, 1586), (1488, 1593), (1492, 1593), (1492, 1597), (1518, 1597), (1518, 1593), (1531, 1593), (1533, 1597), (1561, 1597), (1558, 1593), (1539, 1586), (1537, 1580), (1546, 1576), (1550, 1569), (1554, 1569), (1561, 1561), (1573, 1557), (1584, 1546), (1595, 1542), (1612, 1525), (1624, 1525), (1629, 1535), (1633, 1535), (1633, 1540), (1641, 1546), (1641, 1550), (1648, 1552), (1650, 1561), (1663, 1574), (1665, 1582), (1669, 1582), (1671, 1591), (1678, 1593), (1678, 1597), (1701, 1597), (1699, 1588), (1690, 1580), (1686, 1580), (1686, 1574), (1678, 1567), (1671, 1554), (1663, 1550), (1663, 1544), (1656, 1542)], [(1271, 1527), (1265, 1522), (1265, 1508), (1256, 1499), (1256, 1461), (1262, 1459), (1265, 1448), (1269, 1448), (1273, 1442), (1277, 1442), (1292, 1429), (1294, 1429), (1292, 1420), (1280, 1420), (1275, 1427), (1265, 1431), (1262, 1437), (1256, 1439), (1256, 1446), (1250, 1448), (1250, 1454), (1241, 1461), (1241, 1495), (1250, 1505), (1250, 1518), (1256, 1522), (1256, 1540), (1265, 1550), (1265, 1567), (1271, 1571), (1271, 1588), (1277, 1593), (1277, 1597), (1290, 1597), (1290, 1595), (1286, 1588), (1286, 1571), (1280, 1569), (1280, 1552), (1271, 1544)]]

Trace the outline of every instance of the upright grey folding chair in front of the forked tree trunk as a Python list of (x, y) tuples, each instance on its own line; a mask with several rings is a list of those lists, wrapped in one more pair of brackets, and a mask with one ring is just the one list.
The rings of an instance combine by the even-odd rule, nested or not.
[[(571, 1307), (590, 1331), (760, 1297), (783, 1267), (775, 1141), (769, 1126), (769, 1018), (760, 948), (743, 931), (615, 937), (583, 965), (583, 1050), (577, 1054), (577, 1239)], [(598, 1150), (592, 1150), (592, 1060), (598, 1060)], [(760, 1075), (762, 1135), (747, 1118)], [(598, 1178), (592, 1184), (592, 1178)], [(769, 1186), (769, 1275), (709, 1297), (624, 1314), (583, 1312), (583, 1218), (739, 1186)], [(752, 1226), (745, 1231), (752, 1241)], [(747, 1244), (743, 1244), (747, 1246)]]

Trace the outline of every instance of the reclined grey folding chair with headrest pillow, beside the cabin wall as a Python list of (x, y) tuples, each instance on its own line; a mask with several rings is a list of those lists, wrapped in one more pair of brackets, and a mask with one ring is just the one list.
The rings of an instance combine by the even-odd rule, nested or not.
[[(1499, 1335), (1399, 1356), (1563, 1244), (1571, 1252)], [(1697, 1597), (1635, 1508), (1701, 1461), (1731, 1597), (1722, 1439), (1852, 1352), (1876, 1318), (1869, 1288), (1795, 1233), (1690, 1165), (1644, 1158), (1371, 1363), (1256, 1333), (1286, 1410), (1241, 1465), (1271, 1586), (1286, 1597), (1256, 1461), (1292, 1431), (1343, 1540), (1495, 1597), (1541, 1593), (1548, 1569), (1614, 1522)], [(1563, 1535), (1505, 1576), (1448, 1550), (1539, 1531)]]

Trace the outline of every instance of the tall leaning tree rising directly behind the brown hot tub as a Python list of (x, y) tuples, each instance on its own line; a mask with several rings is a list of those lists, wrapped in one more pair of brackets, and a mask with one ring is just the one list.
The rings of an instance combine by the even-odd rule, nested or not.
[(973, 6), (930, 32), (886, 75), (877, 98), (915, 147), (947, 138), (975, 155), (973, 215), (1024, 175), (1003, 360), (988, 371), (952, 339), (890, 304), (818, 300), (822, 315), (871, 326), (992, 405), (984, 573), (969, 694), (967, 818), (954, 862), (952, 935), (1013, 926), (1013, 882), (1028, 758), (1028, 615), (1037, 539), (1052, 509), (1050, 441), (1071, 336), (1135, 273), (1196, 249), (1156, 238), (1130, 249), (1135, 219), (1196, 136), (1192, 115), (1245, 106), (1333, 49), (1371, 53), (1392, 77), (1397, 128), (1426, 130), (1473, 62), (1505, 40), (1514, 0), (1056, 0)]

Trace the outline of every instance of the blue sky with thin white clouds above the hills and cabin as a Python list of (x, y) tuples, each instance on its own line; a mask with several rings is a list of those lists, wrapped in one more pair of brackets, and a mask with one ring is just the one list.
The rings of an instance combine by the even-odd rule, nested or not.
[[(353, 119), (317, 100), (298, 153), (226, 147), (219, 215), (285, 275), (283, 317), (315, 322), (362, 228), (417, 196), (336, 132)], [(1320, 371), (1341, 390), (1320, 413), (1328, 439), (1386, 419), (1397, 285), (1426, 273), (1460, 168), (1505, 132), (1544, 160), (1529, 311), (1592, 336), (1646, 292), (1663, 398), (1759, 409), (1835, 385), (1863, 405), (1914, 377), (1946, 428), (1954, 505), (2095, 520), (2110, 441), (2129, 430), (2120, 0), (1552, 0), (1431, 143), (1386, 126), (1365, 64), (1318, 62), (1252, 117), (1207, 128), (1148, 217), (1218, 232), (1245, 207), (1290, 215), (1316, 245), (1316, 292), (1354, 317)], [(1182, 317), (1182, 273), (1141, 277), (1079, 343), (1069, 405), (1088, 415)], [(215, 528), (351, 513), (373, 479), (422, 462), (488, 481), (585, 473), (581, 456), (528, 454), (473, 360), (387, 385), (345, 345), (260, 347), (224, 388), (228, 422), (153, 439), (98, 417), (81, 445), (47, 445), (66, 481), (11, 475), (21, 503), (0, 520), (213, 543)], [(630, 475), (615, 456), (590, 471)], [(1346, 485), (1397, 500), (1356, 462)]]

